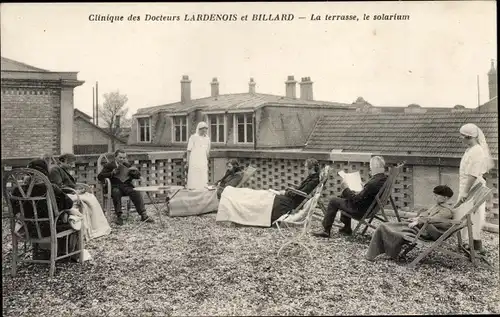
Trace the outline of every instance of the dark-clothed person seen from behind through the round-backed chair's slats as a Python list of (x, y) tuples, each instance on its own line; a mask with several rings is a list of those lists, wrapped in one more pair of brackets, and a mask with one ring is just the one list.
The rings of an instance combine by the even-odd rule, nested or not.
[[(35, 169), (45, 176), (49, 176), (48, 173), (48, 164), (45, 160), (43, 159), (35, 159), (28, 163), (28, 168)], [(26, 185), (23, 185), (23, 191), (26, 192), (27, 187), (29, 186), (31, 180), (26, 179)], [(71, 225), (68, 223), (68, 218), (73, 215), (73, 216), (81, 216), (81, 214), (73, 208), (73, 201), (71, 200), (70, 197), (68, 197), (59, 187), (56, 185), (52, 185), (54, 195), (56, 198), (57, 202), (57, 209), (58, 209), (58, 214), (54, 214), (54, 217), (57, 217), (61, 212), (64, 212), (65, 214), (59, 216), (58, 221), (56, 223), (56, 231), (61, 232), (65, 231), (68, 229), (71, 229)], [(47, 188), (43, 182), (40, 181), (35, 181), (35, 184), (33, 185), (33, 189), (31, 191), (31, 196), (33, 197), (38, 197), (38, 196), (43, 196), (47, 192)], [(14, 188), (12, 192), (13, 196), (18, 196), (21, 197), (21, 191), (18, 187)], [(21, 201), (14, 200), (12, 202), (12, 207), (14, 214), (19, 214), (21, 213)], [(24, 217), (26, 218), (34, 218), (34, 208), (33, 205), (30, 201), (24, 201), (22, 203), (22, 211), (24, 213)], [(43, 201), (43, 203), (38, 203), (36, 206), (36, 212), (37, 212), (37, 217), (38, 218), (48, 218), (48, 207), (47, 203)], [(48, 237), (50, 236), (50, 225), (48, 222), (41, 222), (39, 223), (40, 227), (40, 234), (42, 237)], [(28, 232), (20, 232), (23, 228), (19, 228), (20, 230), (17, 232), (18, 235), (22, 234), (27, 234), (32, 238), (38, 238), (38, 233), (36, 229), (36, 225), (32, 222), (28, 222), (27, 224), (27, 229)], [(78, 246), (78, 235), (74, 234), (71, 235), (69, 241), (70, 249), (69, 252), (72, 252), (73, 250), (76, 250)], [(48, 244), (39, 244), (38, 247), (41, 250), (48, 249), (50, 248), (50, 243)], [(62, 254), (65, 252), (65, 243), (64, 241), (59, 241), (58, 243), (58, 254)], [(37, 259), (48, 259), (50, 254), (47, 254), (46, 252), (44, 253), (43, 251), (39, 254), (35, 254), (35, 257)]]

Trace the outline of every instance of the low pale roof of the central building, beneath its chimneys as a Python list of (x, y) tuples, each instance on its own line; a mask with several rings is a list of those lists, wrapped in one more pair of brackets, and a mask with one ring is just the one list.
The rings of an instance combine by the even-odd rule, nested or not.
[(254, 110), (264, 105), (287, 105), (287, 106), (312, 106), (312, 107), (338, 107), (346, 108), (348, 104), (328, 101), (301, 100), (278, 95), (237, 93), (225, 94), (217, 97), (206, 97), (191, 100), (188, 103), (171, 103), (156, 107), (142, 108), (137, 115), (149, 115), (156, 112), (190, 112), (197, 109), (204, 111), (228, 111), (228, 110)]

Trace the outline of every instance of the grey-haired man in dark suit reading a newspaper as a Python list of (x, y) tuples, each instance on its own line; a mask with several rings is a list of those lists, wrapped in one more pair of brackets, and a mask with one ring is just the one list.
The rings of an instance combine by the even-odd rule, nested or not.
[[(341, 197), (334, 197), (328, 203), (326, 215), (323, 219), (323, 231), (314, 232), (313, 235), (329, 238), (335, 216), (339, 209), (349, 213), (355, 218), (363, 217), (375, 199), (375, 196), (377, 196), (387, 180), (387, 175), (384, 172), (384, 159), (380, 156), (374, 156), (370, 159), (370, 174), (372, 178), (364, 185), (361, 192), (356, 193), (349, 189), (347, 184), (343, 181), (341, 184), (343, 189)], [(339, 232), (347, 235), (352, 234), (351, 218), (341, 215), (340, 221), (344, 224), (344, 227), (340, 229)]]

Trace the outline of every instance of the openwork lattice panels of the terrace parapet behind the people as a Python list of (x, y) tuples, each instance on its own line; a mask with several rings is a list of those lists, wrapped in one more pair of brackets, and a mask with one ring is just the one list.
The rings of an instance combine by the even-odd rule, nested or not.
[[(252, 165), (257, 168), (257, 172), (248, 183), (248, 187), (252, 189), (269, 189), (283, 190), (289, 184), (298, 185), (305, 177), (304, 159), (296, 153), (286, 153), (281, 158), (274, 154), (265, 154), (259, 157), (255, 155), (245, 156), (245, 153), (239, 153), (236, 157), (245, 166)], [(253, 156), (253, 157), (252, 157)], [(223, 153), (214, 156), (215, 158), (225, 157)], [(231, 157), (235, 157), (231, 155)], [(304, 155), (302, 155), (304, 157)], [(314, 156), (313, 156), (314, 157)], [(327, 157), (324, 155), (323, 157)], [(87, 183), (94, 188), (97, 185), (97, 155), (78, 156), (75, 176), (78, 182)], [(21, 160), (2, 160), (4, 167), (21, 167), (26, 166), (30, 159), (24, 158)], [(185, 161), (183, 155), (174, 152), (164, 153), (136, 153), (130, 154), (129, 160), (140, 171), (143, 181), (139, 181), (139, 186), (154, 186), (154, 185), (185, 185), (186, 171), (184, 168)], [(209, 180), (214, 182), (213, 160), (209, 166)], [(325, 164), (331, 164), (330, 161), (320, 160), (323, 167)], [(395, 164), (393, 164), (395, 165)], [(333, 171), (327, 186), (323, 191), (323, 199), (326, 203), (330, 197), (340, 195), (341, 178), (338, 176), (339, 171), (352, 172), (359, 171), (361, 179), (366, 182), (369, 179), (368, 164), (362, 162), (339, 162), (333, 163)], [(413, 166), (405, 165), (396, 179), (393, 188), (393, 197), (398, 208), (402, 210), (411, 210), (414, 205), (414, 183)], [(488, 202), (487, 221), (491, 224), (498, 225), (498, 170), (490, 171), (487, 177), (488, 187), (494, 189), (493, 197)], [(99, 193), (97, 197), (100, 197)]]

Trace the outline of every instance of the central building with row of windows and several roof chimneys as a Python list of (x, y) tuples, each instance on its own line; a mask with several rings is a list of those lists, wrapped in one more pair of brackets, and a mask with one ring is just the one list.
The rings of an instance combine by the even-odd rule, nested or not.
[(191, 99), (191, 80), (181, 80), (181, 101), (142, 108), (133, 116), (131, 150), (185, 149), (196, 125), (205, 121), (213, 148), (287, 149), (304, 146), (317, 119), (327, 114), (354, 112), (348, 104), (313, 100), (312, 81), (288, 76), (285, 96), (257, 93), (250, 79), (248, 92), (219, 94), (214, 78), (211, 96)]

